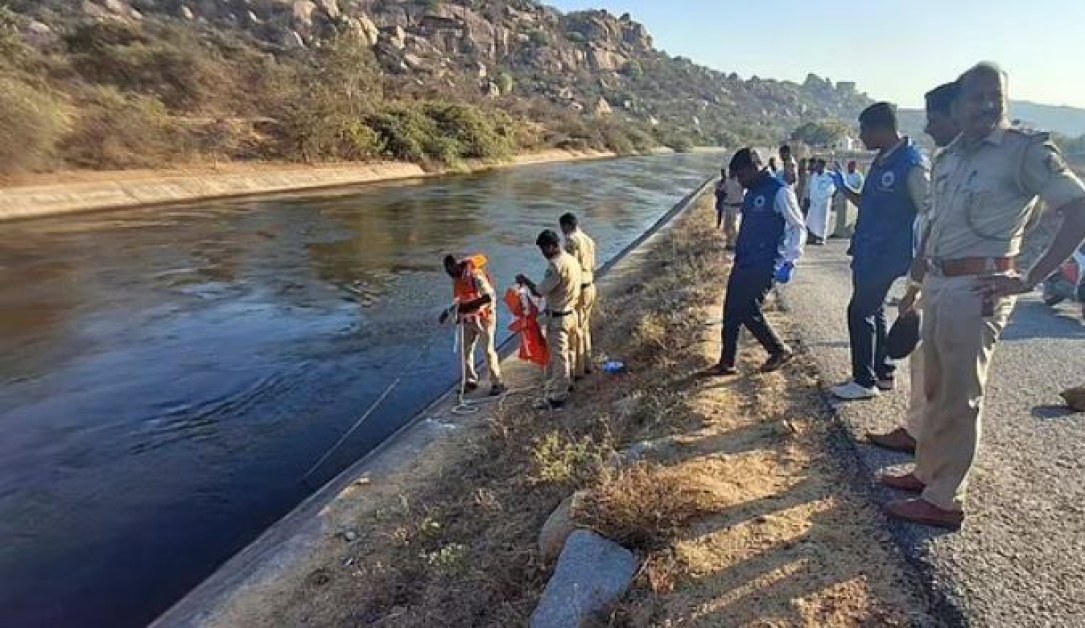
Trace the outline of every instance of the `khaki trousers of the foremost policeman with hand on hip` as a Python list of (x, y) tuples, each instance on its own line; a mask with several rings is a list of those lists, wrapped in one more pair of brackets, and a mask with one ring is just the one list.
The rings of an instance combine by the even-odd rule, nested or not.
[(928, 274), (923, 282), (923, 360), (927, 416), (917, 435), (916, 477), (923, 499), (945, 510), (963, 508), (968, 475), (979, 452), (987, 369), (1013, 298), (984, 317), (974, 277)]

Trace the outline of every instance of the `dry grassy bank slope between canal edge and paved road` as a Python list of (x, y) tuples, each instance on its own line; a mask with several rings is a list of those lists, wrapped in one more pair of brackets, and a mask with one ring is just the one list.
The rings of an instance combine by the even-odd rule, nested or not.
[[(927, 602), (831, 457), (810, 367), (716, 381), (726, 260), (709, 200), (604, 295), (597, 346), (629, 372), (527, 399), (454, 439), (439, 465), (375, 489), (302, 582), (231, 625), (518, 626), (549, 569), (536, 538), (572, 490), (576, 516), (644, 560), (614, 626), (858, 626), (927, 620)], [(763, 356), (744, 348), (750, 367)], [(752, 370), (752, 369), (751, 369)], [(647, 460), (614, 452), (651, 440)], [(608, 463), (607, 461), (611, 461)]]

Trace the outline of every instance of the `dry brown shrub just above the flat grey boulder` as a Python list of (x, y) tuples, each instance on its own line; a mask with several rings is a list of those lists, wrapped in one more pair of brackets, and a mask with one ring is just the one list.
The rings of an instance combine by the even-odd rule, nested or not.
[(727, 505), (725, 491), (707, 473), (639, 463), (604, 476), (575, 516), (627, 548), (652, 551), (688, 523)]

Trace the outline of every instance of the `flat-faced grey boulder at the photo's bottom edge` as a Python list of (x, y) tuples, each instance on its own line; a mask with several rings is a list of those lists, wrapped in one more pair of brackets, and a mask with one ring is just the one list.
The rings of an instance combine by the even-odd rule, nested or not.
[(532, 613), (532, 628), (571, 628), (605, 613), (637, 574), (633, 552), (590, 530), (565, 541), (553, 576)]

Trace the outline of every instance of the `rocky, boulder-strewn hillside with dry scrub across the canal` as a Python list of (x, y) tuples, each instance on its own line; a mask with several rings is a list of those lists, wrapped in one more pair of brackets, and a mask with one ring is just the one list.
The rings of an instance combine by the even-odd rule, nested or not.
[[(208, 137), (218, 138), (221, 145), (213, 148), (232, 158), (444, 159), (476, 155), (460, 150), (463, 141), (450, 146), (425, 138), (416, 155), (391, 136), (405, 125), (435, 125), (448, 136), (445, 118), (460, 124), (478, 112), (508, 150), (771, 143), (805, 121), (851, 123), (870, 102), (855, 84), (814, 75), (799, 85), (716, 72), (656, 50), (629, 15), (563, 14), (532, 0), (5, 4), (0, 44), (17, 54), (0, 62), (0, 80), (20, 78), (25, 102), (44, 99), (65, 110), (53, 120), (61, 144), (72, 143), (63, 138), (78, 130), (88, 105), (124, 104), (141, 110), (137, 117), (154, 110), (175, 132), (183, 128), (195, 138), (187, 140), (190, 152), (206, 153)], [(303, 102), (281, 102), (285, 92)], [(309, 102), (315, 94), (327, 98)], [(430, 106), (414, 115), (417, 103), (438, 102), (460, 108)], [(311, 124), (302, 107), (337, 126), (299, 134), (295, 127)], [(320, 133), (327, 141), (314, 140)], [(344, 137), (360, 148), (344, 150)], [(125, 165), (95, 164), (93, 153), (75, 163)]]

